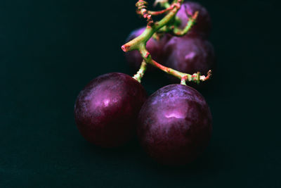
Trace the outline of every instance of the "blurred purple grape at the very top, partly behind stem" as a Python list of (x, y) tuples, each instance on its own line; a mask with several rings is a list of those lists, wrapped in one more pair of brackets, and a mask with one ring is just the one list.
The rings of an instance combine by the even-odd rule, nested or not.
[(176, 16), (181, 20), (181, 25), (179, 27), (183, 29), (188, 23), (188, 15), (194, 15), (196, 11), (199, 11), (196, 24), (192, 26), (187, 36), (208, 37), (211, 32), (210, 15), (206, 8), (195, 2), (187, 1), (183, 3), (180, 10), (178, 10)]

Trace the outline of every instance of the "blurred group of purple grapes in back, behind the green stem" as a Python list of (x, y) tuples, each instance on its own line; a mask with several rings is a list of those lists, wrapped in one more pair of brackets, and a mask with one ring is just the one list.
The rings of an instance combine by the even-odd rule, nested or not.
[[(211, 19), (206, 8), (195, 2), (183, 3), (176, 14), (176, 18), (180, 20), (178, 27), (183, 29), (190, 19), (189, 16), (196, 11), (199, 11), (197, 21), (183, 37), (166, 34), (159, 40), (148, 40), (147, 49), (155, 61), (188, 74), (200, 71), (204, 75), (208, 70), (214, 69), (214, 48), (207, 40), (211, 32)], [(144, 29), (142, 27), (131, 32), (127, 41), (141, 35)], [(130, 51), (125, 56), (131, 67), (140, 67), (143, 58), (138, 51)], [(174, 81), (174, 77), (170, 78)]]

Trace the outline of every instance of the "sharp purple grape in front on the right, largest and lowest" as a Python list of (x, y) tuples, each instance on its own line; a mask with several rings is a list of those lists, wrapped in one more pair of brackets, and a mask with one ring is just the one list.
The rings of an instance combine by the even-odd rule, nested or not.
[(138, 115), (138, 139), (158, 163), (190, 163), (204, 151), (210, 137), (209, 106), (197, 90), (186, 85), (157, 90)]

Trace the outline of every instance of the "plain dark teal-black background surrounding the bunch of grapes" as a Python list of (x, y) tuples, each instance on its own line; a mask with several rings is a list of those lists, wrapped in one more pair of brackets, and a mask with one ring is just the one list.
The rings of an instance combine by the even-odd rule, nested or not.
[[(92, 146), (73, 118), (87, 82), (133, 74), (120, 46), (145, 25), (136, 1), (0, 1), (0, 187), (281, 187), (280, 5), (199, 2), (213, 22), (217, 72), (202, 94), (214, 133), (195, 163), (166, 168), (137, 142)], [(149, 94), (167, 84), (157, 76)]]

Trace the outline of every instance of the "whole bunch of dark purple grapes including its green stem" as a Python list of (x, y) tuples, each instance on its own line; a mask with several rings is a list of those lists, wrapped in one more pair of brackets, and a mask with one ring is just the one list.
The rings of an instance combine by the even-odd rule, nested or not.
[[(209, 106), (185, 84), (209, 79), (197, 71), (209, 74), (214, 63), (213, 48), (206, 40), (210, 18), (197, 3), (155, 2), (166, 9), (148, 11), (146, 1), (137, 2), (137, 13), (148, 25), (133, 31), (122, 46), (129, 64), (141, 67), (138, 73), (96, 77), (79, 93), (74, 118), (79, 132), (93, 144), (122, 146), (137, 136), (158, 163), (185, 165), (204, 151), (211, 137)], [(155, 23), (152, 15), (159, 14), (165, 16)], [(147, 64), (179, 78), (181, 84), (169, 84), (148, 96), (141, 85)]]

